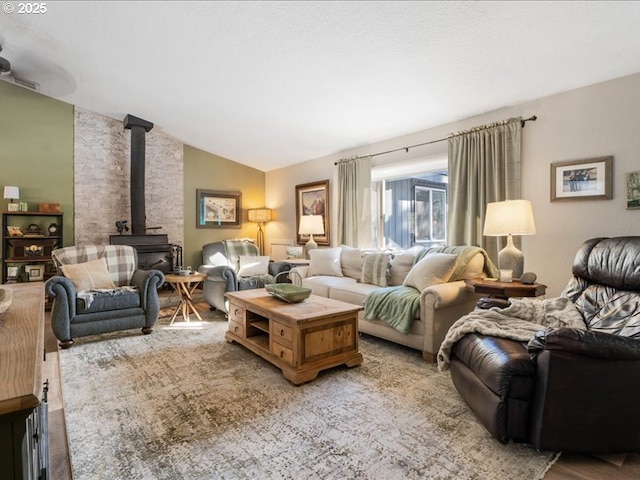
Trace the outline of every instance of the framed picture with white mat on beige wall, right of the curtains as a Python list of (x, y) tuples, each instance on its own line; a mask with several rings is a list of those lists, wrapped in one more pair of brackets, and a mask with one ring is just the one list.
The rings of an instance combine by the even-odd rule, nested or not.
[(610, 200), (613, 157), (551, 164), (551, 201)]

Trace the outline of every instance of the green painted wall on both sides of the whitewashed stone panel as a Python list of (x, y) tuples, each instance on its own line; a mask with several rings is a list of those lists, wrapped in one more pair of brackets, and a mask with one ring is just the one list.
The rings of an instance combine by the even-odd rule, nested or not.
[[(73, 245), (73, 105), (0, 81), (0, 192), (20, 187), (20, 199), (37, 210), (56, 202), (64, 212), (65, 245)], [(184, 146), (184, 262), (197, 269), (202, 245), (255, 238), (247, 209), (264, 206), (265, 174), (197, 148)], [(241, 228), (196, 228), (196, 190), (242, 192)], [(0, 198), (0, 209), (7, 202)], [(42, 225), (46, 227), (48, 225)]]

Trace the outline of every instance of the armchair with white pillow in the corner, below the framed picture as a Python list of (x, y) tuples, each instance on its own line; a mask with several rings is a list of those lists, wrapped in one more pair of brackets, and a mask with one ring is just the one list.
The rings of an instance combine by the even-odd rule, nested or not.
[(227, 292), (262, 288), (289, 268), (286, 262), (270, 262), (269, 257), (260, 256), (258, 247), (249, 241), (222, 240), (202, 247), (198, 271), (207, 274), (202, 287), (206, 302), (212, 309), (229, 313)]

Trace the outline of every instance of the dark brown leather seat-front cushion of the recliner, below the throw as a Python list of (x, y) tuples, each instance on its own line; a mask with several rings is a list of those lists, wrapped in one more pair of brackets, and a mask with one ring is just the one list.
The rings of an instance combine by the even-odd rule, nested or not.
[(500, 398), (531, 396), (535, 364), (526, 342), (469, 333), (456, 342), (453, 354)]

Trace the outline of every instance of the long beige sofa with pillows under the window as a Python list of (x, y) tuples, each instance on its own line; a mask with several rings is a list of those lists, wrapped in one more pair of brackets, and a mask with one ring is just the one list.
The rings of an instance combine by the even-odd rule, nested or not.
[[(385, 263), (385, 257), (380, 253), (383, 252), (346, 246), (312, 250), (310, 264), (294, 267), (292, 271), (300, 275), (302, 284), (311, 288), (315, 295), (363, 306), (372, 292), (385, 286), (387, 291), (398, 290), (397, 287), (411, 279), (409, 286), (416, 288), (414, 293), (416, 297), (419, 295), (420, 306), (410, 325), (405, 325), (406, 332), (380, 318), (366, 318), (365, 311), (360, 312), (359, 330), (419, 350), (424, 360), (435, 362), (449, 327), (473, 310), (479, 298), (465, 288), (464, 279), (494, 277), (497, 274), (495, 266), (478, 247), (428, 250), (414, 247), (390, 253), (386, 265), (377, 266), (378, 272), (384, 269), (385, 279), (372, 280), (369, 271), (372, 262)], [(455, 257), (451, 259), (452, 256)], [(434, 264), (435, 260), (452, 262), (453, 266), (447, 269), (437, 261)], [(432, 272), (431, 265), (441, 271)]]

